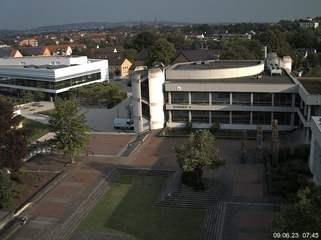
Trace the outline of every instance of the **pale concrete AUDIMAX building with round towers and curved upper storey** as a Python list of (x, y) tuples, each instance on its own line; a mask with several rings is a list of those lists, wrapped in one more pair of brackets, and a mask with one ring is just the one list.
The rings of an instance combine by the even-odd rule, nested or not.
[(309, 165), (313, 174), (319, 171), (315, 181), (321, 182), (321, 132), (312, 121), (321, 116), (321, 79), (294, 78), (290, 71), (291, 58), (275, 53), (264, 60), (138, 67), (132, 74), (134, 129), (142, 131), (149, 121), (151, 129), (183, 128), (191, 122), (194, 128), (219, 123), (223, 129), (254, 130), (260, 124), (271, 130), (278, 119), (279, 130), (297, 128), (304, 144), (315, 145)]

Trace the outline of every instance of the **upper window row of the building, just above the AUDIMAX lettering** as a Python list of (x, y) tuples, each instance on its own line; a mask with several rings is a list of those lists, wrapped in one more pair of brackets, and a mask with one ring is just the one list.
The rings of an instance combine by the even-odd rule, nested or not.
[[(191, 92), (192, 104), (209, 104), (209, 92)], [(230, 92), (211, 92), (212, 104), (230, 104)], [(171, 103), (189, 103), (189, 92), (171, 92)], [(275, 106), (291, 106), (292, 93), (274, 93)], [(232, 104), (251, 105), (250, 92), (232, 92)], [(253, 105), (272, 105), (272, 93), (253, 92)], [(295, 106), (300, 105), (300, 97), (295, 96)]]

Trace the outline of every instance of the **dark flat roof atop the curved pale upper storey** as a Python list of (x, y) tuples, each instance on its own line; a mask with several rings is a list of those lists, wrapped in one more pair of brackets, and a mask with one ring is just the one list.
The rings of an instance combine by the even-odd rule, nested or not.
[[(201, 63), (201, 62), (198, 62)], [(201, 70), (201, 69), (226, 69), (226, 68), (238, 68), (248, 67), (261, 64), (260, 60), (211, 60), (204, 61), (205, 64), (196, 64), (194, 62), (179, 64), (178, 66), (171, 68), (170, 70)]]

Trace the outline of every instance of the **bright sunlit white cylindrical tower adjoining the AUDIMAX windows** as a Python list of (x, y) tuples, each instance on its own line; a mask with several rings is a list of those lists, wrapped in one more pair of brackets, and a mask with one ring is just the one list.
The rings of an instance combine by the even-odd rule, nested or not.
[(164, 82), (165, 72), (161, 68), (148, 70), (150, 128), (164, 127)]

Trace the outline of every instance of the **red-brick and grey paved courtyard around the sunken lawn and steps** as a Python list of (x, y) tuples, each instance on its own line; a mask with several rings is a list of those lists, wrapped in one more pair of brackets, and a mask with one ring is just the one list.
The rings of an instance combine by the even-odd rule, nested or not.
[[(58, 226), (70, 231), (70, 239), (89, 239), (88, 234), (97, 239), (136, 239), (130, 234), (82, 234), (77, 225), (70, 225), (71, 216), (80, 210), (78, 207), (90, 195), (95, 194), (96, 187), (115, 167), (180, 170), (173, 147), (182, 144), (186, 138), (159, 137), (158, 133), (152, 131), (128, 157), (120, 155), (132, 140), (132, 135), (105, 133), (96, 134), (98, 139), (93, 138), (89, 147), (89, 150), (99, 151), (99, 154), (86, 156), (83, 153), (76, 156), (80, 162), (77, 167), (66, 165), (69, 157), (62, 154), (38, 154), (26, 162), (27, 168), (64, 170), (65, 177), (23, 212), (28, 216), (28, 223), (14, 232), (10, 239), (45, 239), (42, 237)], [(280, 147), (287, 147), (286, 135), (281, 133), (279, 138)], [(101, 145), (98, 145), (99, 141)], [(268, 194), (265, 167), (255, 162), (256, 140), (247, 140), (248, 161), (243, 165), (239, 160), (240, 139), (218, 138), (215, 145), (227, 164), (219, 169), (204, 169), (203, 176), (221, 182), (218, 201), (224, 202), (226, 209), (223, 212), (220, 239), (267, 239), (275, 212), (287, 200)], [(270, 145), (270, 133), (264, 133), (265, 153), (269, 153)], [(97, 149), (93, 150), (94, 147)], [(87, 207), (92, 208), (93, 205)]]

